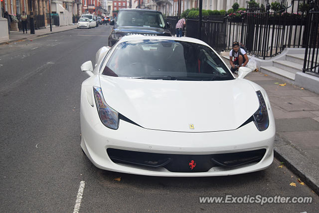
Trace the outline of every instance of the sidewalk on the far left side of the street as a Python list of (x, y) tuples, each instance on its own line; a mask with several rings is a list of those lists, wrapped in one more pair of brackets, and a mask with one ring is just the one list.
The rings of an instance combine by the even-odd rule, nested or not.
[(22, 31), (10, 31), (9, 34), (9, 40), (1, 42), (0, 44), (6, 44), (6, 43), (12, 43), (19, 40), (25, 40), (25, 39), (32, 39), (41, 35), (66, 31), (77, 28), (76, 24), (68, 25), (68, 26), (54, 26), (52, 27), (52, 32), (50, 31), (50, 26), (43, 28), (43, 29), (36, 29), (35, 34), (30, 34), (30, 30), (28, 30), (28, 33), (23, 34)]

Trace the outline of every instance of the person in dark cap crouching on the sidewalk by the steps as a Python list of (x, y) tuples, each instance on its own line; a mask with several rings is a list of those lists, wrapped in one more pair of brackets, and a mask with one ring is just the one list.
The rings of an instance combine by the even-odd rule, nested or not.
[(229, 52), (229, 63), (231, 65), (230, 70), (233, 73), (238, 72), (239, 67), (246, 66), (248, 63), (246, 51), (239, 47), (238, 41), (233, 42), (233, 49)]

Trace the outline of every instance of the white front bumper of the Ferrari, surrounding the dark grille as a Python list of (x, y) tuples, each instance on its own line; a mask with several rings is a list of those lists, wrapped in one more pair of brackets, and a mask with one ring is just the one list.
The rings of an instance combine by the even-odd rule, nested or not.
[[(85, 93), (81, 95), (81, 147), (91, 162), (98, 168), (129, 174), (148, 176), (198, 177), (224, 176), (263, 170), (273, 162), (275, 125), (270, 113), (270, 125), (260, 132), (253, 122), (232, 130), (220, 132), (169, 132), (149, 130), (120, 120), (118, 130), (105, 127), (95, 107), (87, 103)], [(240, 166), (223, 167), (213, 164), (208, 170), (196, 172), (171, 172), (163, 167), (150, 167), (112, 160), (111, 149), (144, 152), (150, 154), (184, 155), (198, 158), (200, 155), (238, 153), (265, 150), (258, 162)], [(189, 158), (189, 162), (191, 161)], [(185, 161), (188, 164), (188, 161)], [(199, 166), (199, 165), (197, 165)], [(188, 165), (186, 165), (188, 167)]]

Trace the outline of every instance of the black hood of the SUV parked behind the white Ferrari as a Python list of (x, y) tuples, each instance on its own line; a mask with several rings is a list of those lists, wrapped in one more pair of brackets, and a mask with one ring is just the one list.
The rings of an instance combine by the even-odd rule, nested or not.
[(146, 35), (162, 35), (167, 33), (167, 30), (157, 27), (142, 27), (142, 26), (118, 26), (114, 29), (116, 33), (123, 35), (146, 34)]

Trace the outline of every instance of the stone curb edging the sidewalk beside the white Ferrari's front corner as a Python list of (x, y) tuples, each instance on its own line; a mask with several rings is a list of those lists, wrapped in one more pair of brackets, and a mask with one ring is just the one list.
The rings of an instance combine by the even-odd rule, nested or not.
[(274, 155), (319, 195), (319, 167), (314, 160), (309, 159), (278, 133), (275, 138)]

